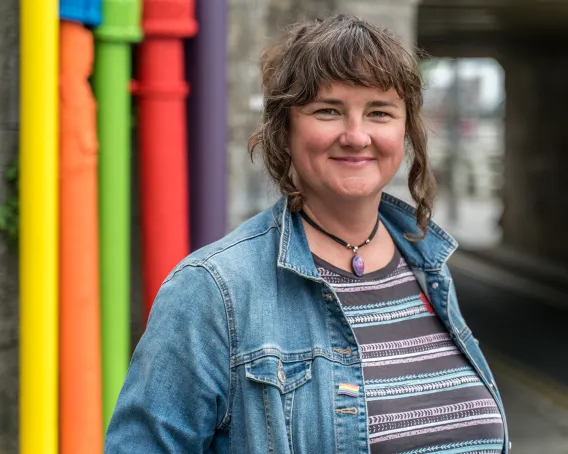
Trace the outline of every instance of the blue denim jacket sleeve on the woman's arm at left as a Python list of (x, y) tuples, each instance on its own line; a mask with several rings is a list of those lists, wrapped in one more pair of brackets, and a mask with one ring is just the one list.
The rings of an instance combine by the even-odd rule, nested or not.
[(207, 452), (227, 414), (229, 377), (222, 293), (207, 269), (182, 266), (158, 292), (105, 454)]

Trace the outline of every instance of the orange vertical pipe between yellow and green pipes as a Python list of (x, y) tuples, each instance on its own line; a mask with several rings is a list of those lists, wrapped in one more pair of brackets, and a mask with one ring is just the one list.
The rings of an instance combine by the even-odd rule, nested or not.
[(93, 36), (60, 23), (60, 453), (103, 451)]

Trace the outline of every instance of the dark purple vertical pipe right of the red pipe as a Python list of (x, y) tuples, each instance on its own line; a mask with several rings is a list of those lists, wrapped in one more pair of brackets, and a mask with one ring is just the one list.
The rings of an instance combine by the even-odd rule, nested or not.
[(192, 250), (226, 233), (227, 0), (197, 0), (196, 17), (186, 52)]

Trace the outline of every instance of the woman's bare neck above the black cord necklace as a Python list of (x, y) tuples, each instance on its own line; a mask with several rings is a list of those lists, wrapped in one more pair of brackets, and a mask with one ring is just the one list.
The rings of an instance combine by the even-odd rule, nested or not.
[(304, 211), (327, 232), (349, 244), (358, 245), (369, 237), (377, 222), (379, 201), (380, 193), (372, 200), (358, 203), (325, 203), (321, 199), (307, 198)]

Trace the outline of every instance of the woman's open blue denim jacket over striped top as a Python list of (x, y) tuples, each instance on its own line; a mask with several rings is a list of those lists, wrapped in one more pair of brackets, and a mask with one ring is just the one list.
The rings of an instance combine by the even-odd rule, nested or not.
[[(383, 194), (379, 214), (452, 339), (505, 414), (460, 310), (446, 260), (457, 243)], [(363, 454), (359, 345), (285, 198), (184, 259), (166, 278), (118, 398), (106, 454)]]

